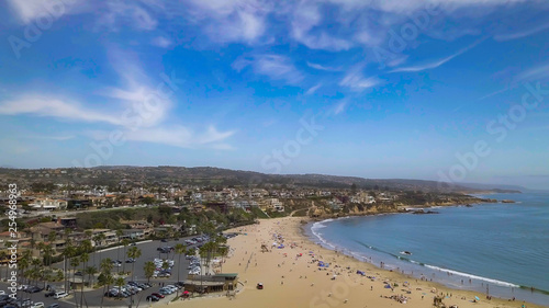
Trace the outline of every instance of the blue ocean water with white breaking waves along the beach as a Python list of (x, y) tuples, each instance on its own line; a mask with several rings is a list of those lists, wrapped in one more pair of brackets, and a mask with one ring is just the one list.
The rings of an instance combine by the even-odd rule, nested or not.
[(486, 197), (517, 203), (325, 220), (310, 236), (415, 277), (549, 306), (549, 193)]

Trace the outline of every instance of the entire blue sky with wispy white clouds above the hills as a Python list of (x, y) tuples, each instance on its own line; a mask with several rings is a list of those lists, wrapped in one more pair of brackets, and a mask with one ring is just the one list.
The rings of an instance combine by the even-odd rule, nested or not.
[(5, 167), (549, 187), (547, 1), (0, 5)]

